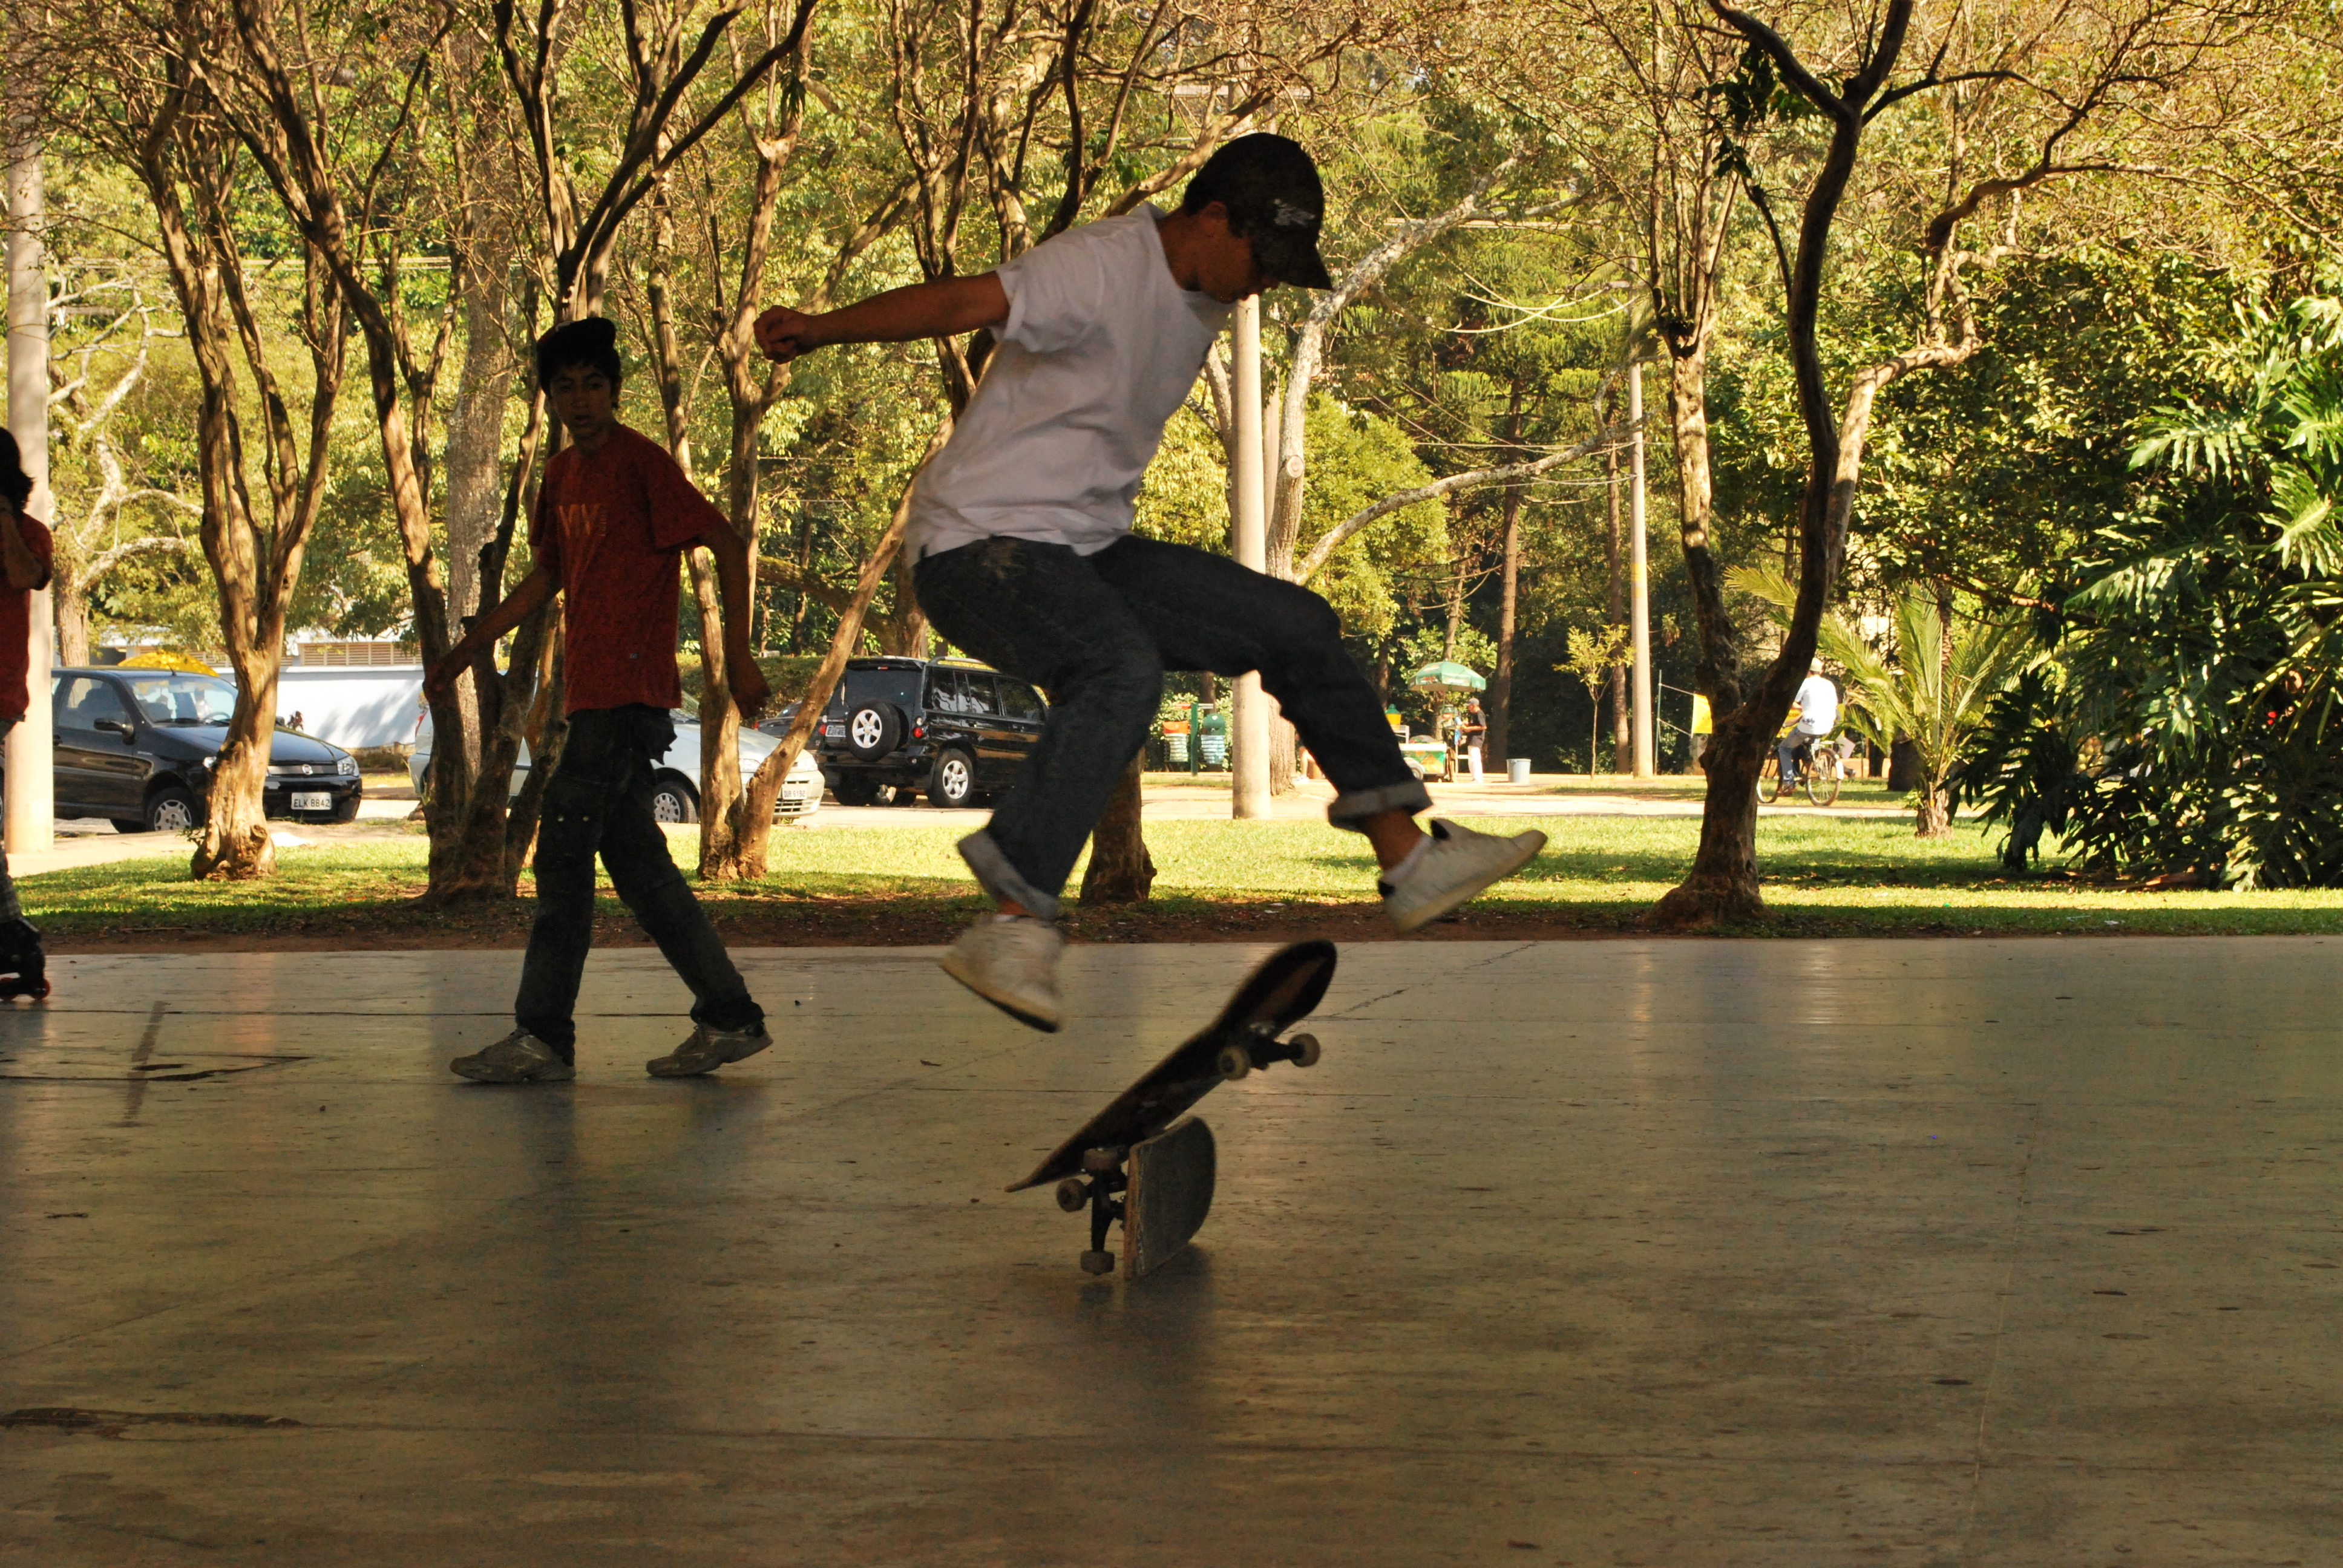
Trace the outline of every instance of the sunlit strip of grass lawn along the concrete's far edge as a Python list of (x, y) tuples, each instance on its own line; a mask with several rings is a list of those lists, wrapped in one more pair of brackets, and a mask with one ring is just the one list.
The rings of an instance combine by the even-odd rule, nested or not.
[[(970, 825), (975, 825), (970, 816)], [(1626, 933), (1689, 863), (1696, 818), (1476, 818), (1478, 827), (1544, 827), (1551, 844), (1436, 935)], [(701, 898), (743, 945), (937, 942), (982, 907), (951, 851), (965, 827), (815, 827), (773, 834), (771, 877), (710, 884)], [(1961, 825), (1921, 841), (1907, 818), (1767, 818), (1757, 830), (1771, 919), (1746, 935), (1985, 933), (2331, 933), (2343, 891), (2205, 893), (2008, 877), (1999, 832)], [(1373, 863), (1354, 834), (1321, 823), (1195, 823), (1148, 827), (1155, 898), (1139, 909), (1075, 914), (1089, 940), (1268, 938), (1324, 930), (1378, 935)], [(677, 834), (677, 858), (691, 839)], [(532, 902), (422, 909), (424, 841), (323, 844), (279, 851), (255, 884), (194, 884), (185, 855), (23, 879), (33, 919), (61, 949), (173, 947), (234, 940), (518, 945)], [(1080, 886), (1080, 870), (1075, 884)], [(522, 877), (522, 893), (530, 879)], [(604, 895), (602, 933), (640, 940)]]

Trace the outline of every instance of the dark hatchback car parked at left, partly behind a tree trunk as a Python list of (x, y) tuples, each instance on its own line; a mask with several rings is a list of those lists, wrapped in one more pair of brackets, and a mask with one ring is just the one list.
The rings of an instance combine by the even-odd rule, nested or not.
[[(237, 710), (234, 684), (180, 670), (56, 670), (56, 816), (103, 816), (122, 832), (185, 832), (204, 820), (211, 769)], [(262, 809), (305, 823), (358, 816), (358, 759), (279, 729)]]

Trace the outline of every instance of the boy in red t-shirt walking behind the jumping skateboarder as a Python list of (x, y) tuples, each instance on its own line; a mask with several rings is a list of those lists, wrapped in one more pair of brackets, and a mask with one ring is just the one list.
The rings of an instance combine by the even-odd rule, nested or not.
[(724, 668), (740, 722), (754, 724), (764, 710), (769, 691), (747, 652), (747, 551), (663, 448), (619, 424), (619, 328), (609, 321), (572, 321), (537, 340), (537, 384), (569, 434), (569, 448), (546, 464), (530, 527), (537, 565), (424, 682), (431, 694), (448, 691), (483, 649), (562, 595), (569, 738), (537, 827), (537, 926), (513, 1003), (518, 1029), (450, 1062), (478, 1083), (576, 1076), (572, 1008), (593, 945), (597, 851), (619, 898), (696, 998), (691, 1038), (649, 1062), (651, 1076), (691, 1078), (771, 1045), (764, 1010), (651, 818), (651, 764), (675, 743), (668, 710), (682, 701), (675, 565), (694, 544), (717, 558)]

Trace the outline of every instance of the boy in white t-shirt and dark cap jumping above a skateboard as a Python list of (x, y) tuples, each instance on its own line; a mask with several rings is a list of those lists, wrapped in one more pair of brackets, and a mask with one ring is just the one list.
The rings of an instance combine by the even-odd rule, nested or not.
[(914, 284), (820, 316), (773, 307), (778, 361), (827, 342), (991, 328), (996, 349), (951, 441), (911, 492), (921, 609), (968, 654), (1050, 691), (1050, 722), (991, 823), (961, 841), (998, 914), (944, 970), (1057, 1029), (1059, 891), (1162, 701), (1162, 673), (1261, 673), (1364, 832), (1401, 930), (1521, 870), (1544, 834), (1434, 823), (1373, 687), (1319, 595), (1225, 555), (1139, 539), (1132, 497), (1230, 305), (1275, 284), (1326, 288), (1317, 166), (1284, 136), (1214, 152), (1176, 213), (1141, 206), (970, 279)]

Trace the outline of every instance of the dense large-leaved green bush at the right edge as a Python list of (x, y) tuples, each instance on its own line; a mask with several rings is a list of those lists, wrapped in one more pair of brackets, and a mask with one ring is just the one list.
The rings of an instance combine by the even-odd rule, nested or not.
[(2156, 410), (2062, 609), (2106, 708), (2074, 844), (2102, 870), (2343, 884), (2343, 300), (2256, 312), (2221, 394)]

